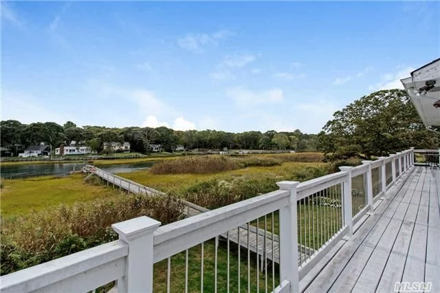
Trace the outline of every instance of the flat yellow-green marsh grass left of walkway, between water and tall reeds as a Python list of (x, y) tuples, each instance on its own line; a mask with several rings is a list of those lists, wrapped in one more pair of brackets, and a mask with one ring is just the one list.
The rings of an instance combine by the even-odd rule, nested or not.
[(32, 213), (59, 204), (69, 205), (110, 197), (118, 197), (118, 193), (85, 183), (83, 175), (3, 180), (1, 217)]

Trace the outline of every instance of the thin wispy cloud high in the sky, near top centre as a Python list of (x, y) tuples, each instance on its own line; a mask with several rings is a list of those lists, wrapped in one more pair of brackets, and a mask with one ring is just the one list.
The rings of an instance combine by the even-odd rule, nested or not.
[(186, 49), (192, 52), (201, 53), (204, 51), (204, 47), (207, 45), (217, 45), (218, 41), (225, 39), (228, 36), (233, 36), (234, 32), (228, 30), (219, 30), (212, 34), (199, 33), (199, 34), (186, 34), (185, 36), (177, 39), (177, 45), (182, 49)]

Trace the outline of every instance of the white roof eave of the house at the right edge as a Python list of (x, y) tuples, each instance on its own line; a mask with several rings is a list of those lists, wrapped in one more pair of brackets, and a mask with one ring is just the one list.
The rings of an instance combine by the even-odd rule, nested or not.
[(401, 79), (411, 102), (426, 127), (440, 127), (440, 108), (435, 103), (440, 100), (440, 58), (410, 73)]

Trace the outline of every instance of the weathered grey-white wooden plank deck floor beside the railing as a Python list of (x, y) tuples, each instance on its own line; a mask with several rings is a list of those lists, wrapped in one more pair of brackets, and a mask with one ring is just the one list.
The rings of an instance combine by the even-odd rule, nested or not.
[(439, 197), (439, 169), (415, 167), (300, 290), (395, 292), (396, 282), (432, 282), (430, 292), (440, 292)]

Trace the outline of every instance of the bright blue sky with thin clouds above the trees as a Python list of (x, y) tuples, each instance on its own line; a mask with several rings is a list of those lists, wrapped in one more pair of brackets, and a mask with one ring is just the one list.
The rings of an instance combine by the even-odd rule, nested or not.
[(3, 120), (318, 133), (440, 55), (440, 2), (3, 2)]

